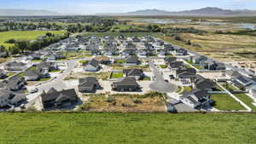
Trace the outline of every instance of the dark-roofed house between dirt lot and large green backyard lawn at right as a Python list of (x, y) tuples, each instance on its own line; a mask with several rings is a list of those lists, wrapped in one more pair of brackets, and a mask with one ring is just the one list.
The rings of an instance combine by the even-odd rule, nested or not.
[(184, 104), (198, 109), (210, 106), (212, 103), (211, 95), (206, 89), (192, 89), (191, 92), (183, 94), (182, 101)]

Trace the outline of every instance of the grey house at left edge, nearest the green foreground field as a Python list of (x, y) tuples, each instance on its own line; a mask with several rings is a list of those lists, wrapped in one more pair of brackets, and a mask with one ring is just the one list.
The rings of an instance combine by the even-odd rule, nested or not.
[(0, 89), (0, 107), (9, 108), (20, 105), (26, 101), (26, 95), (22, 93), (14, 93), (8, 89)]

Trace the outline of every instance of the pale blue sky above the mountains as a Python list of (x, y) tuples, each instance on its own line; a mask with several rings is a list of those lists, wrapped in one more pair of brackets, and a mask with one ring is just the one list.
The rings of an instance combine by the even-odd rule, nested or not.
[(0, 0), (0, 9), (44, 9), (61, 14), (123, 13), (141, 9), (180, 11), (205, 7), (256, 10), (256, 0)]

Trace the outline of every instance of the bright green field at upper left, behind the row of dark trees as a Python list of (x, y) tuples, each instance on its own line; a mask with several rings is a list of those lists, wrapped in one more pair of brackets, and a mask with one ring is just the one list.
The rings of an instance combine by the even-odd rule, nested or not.
[(0, 45), (12, 46), (12, 44), (4, 43), (5, 41), (14, 38), (22, 40), (35, 40), (38, 36), (44, 36), (45, 33), (51, 32), (54, 34), (63, 34), (64, 31), (10, 31), (10, 32), (0, 32)]

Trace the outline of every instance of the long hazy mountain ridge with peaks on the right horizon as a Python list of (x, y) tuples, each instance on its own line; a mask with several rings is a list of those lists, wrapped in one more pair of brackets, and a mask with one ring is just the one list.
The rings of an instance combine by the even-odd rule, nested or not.
[(194, 9), (194, 10), (184, 10), (171, 12), (166, 10), (159, 9), (145, 9), (137, 10), (128, 13), (119, 13), (119, 14), (102, 14), (102, 15), (205, 15), (205, 16), (254, 16), (256, 15), (255, 10), (228, 10), (228, 9), (219, 9), (207, 7), (203, 9)]

